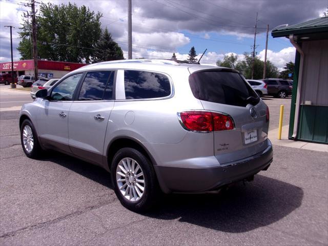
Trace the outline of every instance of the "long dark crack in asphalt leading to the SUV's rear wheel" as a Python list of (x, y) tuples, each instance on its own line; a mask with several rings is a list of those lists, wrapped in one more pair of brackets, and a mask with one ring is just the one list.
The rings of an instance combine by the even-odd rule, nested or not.
[(45, 221), (45, 222), (40, 222), (40, 223), (32, 224), (31, 226), (27, 226), (27, 227), (20, 228), (20, 229), (17, 229), (15, 231), (12, 231), (12, 232), (5, 233), (3, 235), (0, 235), (0, 239), (1, 238), (13, 237), (13, 236), (16, 236), (17, 234), (20, 234), (20, 233), (23, 233), (23, 232), (26, 232), (26, 231), (30, 231), (30, 230), (34, 230), (34, 229), (39, 229), (39, 228), (47, 227), (47, 226), (50, 226), (51, 224), (55, 224), (55, 223), (61, 222), (61, 221), (65, 220), (65, 219), (67, 219), (67, 218), (75, 217), (75, 216), (78, 216), (80, 214), (84, 214), (86, 212), (92, 211), (94, 209), (98, 209), (98, 208), (101, 208), (103, 206), (109, 205), (109, 204), (111, 204), (111, 203), (113, 203), (115, 201), (116, 201), (116, 197), (113, 197), (113, 199), (111, 199), (111, 200), (100, 202), (97, 205), (89, 206), (89, 207), (85, 208), (84, 210), (78, 210), (78, 211), (72, 212), (70, 214), (67, 214), (67, 215), (64, 215), (64, 216), (61, 216), (61, 217), (52, 219), (52, 220), (48, 220), (48, 221)]

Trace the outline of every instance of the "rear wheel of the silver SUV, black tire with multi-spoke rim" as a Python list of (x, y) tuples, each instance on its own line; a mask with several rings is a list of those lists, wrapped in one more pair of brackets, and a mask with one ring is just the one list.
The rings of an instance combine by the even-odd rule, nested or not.
[(122, 148), (117, 151), (111, 165), (111, 178), (115, 194), (125, 208), (139, 213), (156, 203), (160, 189), (155, 170), (151, 161), (138, 150)]

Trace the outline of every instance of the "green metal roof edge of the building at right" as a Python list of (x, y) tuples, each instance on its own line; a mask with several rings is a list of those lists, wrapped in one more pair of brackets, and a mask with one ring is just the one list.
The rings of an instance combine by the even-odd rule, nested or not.
[(285, 37), (290, 34), (302, 35), (322, 32), (328, 32), (328, 17), (320, 17), (292, 26), (280, 26), (272, 30), (271, 35), (272, 37)]

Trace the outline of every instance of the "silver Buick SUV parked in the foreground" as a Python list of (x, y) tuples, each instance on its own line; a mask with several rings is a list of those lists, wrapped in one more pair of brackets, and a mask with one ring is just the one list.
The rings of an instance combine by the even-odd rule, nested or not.
[(25, 154), (53, 149), (111, 173), (126, 208), (160, 191), (198, 193), (248, 179), (272, 162), (269, 110), (235, 70), (171, 60), (77, 69), (20, 111)]

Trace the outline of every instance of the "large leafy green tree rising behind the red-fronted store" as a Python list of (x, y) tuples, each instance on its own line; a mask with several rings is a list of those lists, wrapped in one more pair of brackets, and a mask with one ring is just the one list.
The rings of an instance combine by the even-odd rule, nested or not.
[[(94, 45), (98, 41), (101, 13), (76, 4), (40, 4), (36, 17), (37, 49), (40, 58), (90, 63)], [(18, 51), (22, 59), (31, 57), (31, 43), (27, 21), (19, 33), (22, 41)]]

